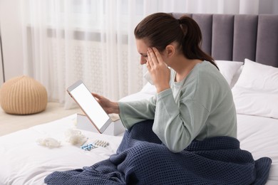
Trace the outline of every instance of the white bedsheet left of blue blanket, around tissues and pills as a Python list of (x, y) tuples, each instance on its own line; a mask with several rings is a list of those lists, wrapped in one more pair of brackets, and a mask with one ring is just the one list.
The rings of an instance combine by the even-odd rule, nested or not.
[[(88, 142), (102, 139), (109, 146), (85, 151), (66, 142), (65, 132), (74, 126), (76, 115), (44, 125), (38, 125), (0, 137), (0, 184), (44, 184), (43, 179), (53, 171), (91, 166), (110, 154), (115, 154), (122, 137), (81, 131)], [(61, 141), (61, 147), (49, 149), (36, 143), (41, 137)]]

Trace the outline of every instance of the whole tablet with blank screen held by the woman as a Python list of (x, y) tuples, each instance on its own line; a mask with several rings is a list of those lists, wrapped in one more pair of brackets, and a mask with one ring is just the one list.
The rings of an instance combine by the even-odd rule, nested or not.
[(98, 132), (103, 133), (112, 120), (105, 110), (103, 110), (103, 107), (101, 107), (96, 98), (93, 97), (82, 80), (78, 80), (68, 87), (67, 91), (73, 100), (77, 102), (79, 107), (81, 107), (96, 129), (98, 129)]

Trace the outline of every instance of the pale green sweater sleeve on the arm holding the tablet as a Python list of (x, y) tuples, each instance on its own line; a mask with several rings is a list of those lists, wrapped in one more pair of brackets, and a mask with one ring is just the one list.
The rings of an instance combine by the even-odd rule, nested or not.
[(156, 96), (149, 100), (133, 102), (118, 102), (120, 108), (120, 120), (125, 128), (130, 129), (135, 123), (144, 120), (153, 120), (155, 117)]

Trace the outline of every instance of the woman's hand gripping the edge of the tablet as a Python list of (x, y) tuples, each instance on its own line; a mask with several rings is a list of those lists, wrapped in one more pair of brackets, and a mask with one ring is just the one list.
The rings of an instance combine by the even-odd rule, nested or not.
[(112, 114), (112, 113), (120, 114), (120, 108), (118, 102), (111, 102), (107, 98), (98, 95), (96, 93), (92, 93), (92, 95), (93, 97), (96, 97), (96, 100), (101, 105), (101, 107), (103, 107), (103, 110), (105, 110), (107, 114)]

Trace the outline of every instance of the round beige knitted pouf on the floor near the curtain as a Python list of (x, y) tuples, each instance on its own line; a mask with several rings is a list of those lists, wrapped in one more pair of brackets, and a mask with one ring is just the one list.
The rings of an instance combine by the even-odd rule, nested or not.
[(2, 109), (13, 115), (31, 115), (42, 112), (47, 105), (46, 88), (28, 76), (6, 81), (0, 89)]

